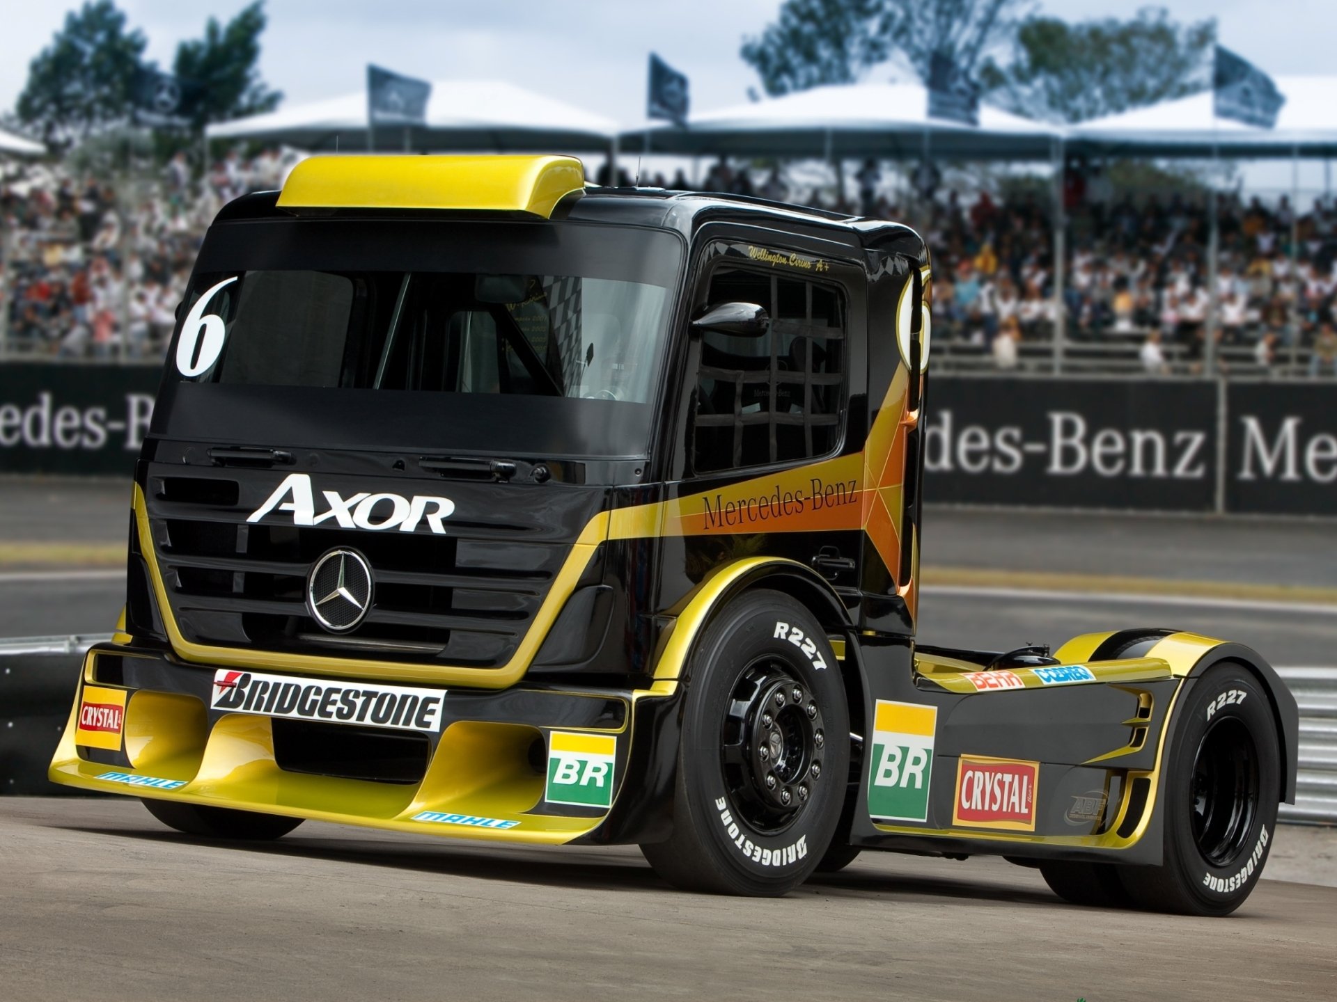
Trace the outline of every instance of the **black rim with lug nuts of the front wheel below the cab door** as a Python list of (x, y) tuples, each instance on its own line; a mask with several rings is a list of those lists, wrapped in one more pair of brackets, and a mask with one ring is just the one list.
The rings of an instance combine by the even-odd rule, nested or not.
[(751, 661), (730, 693), (722, 774), (734, 811), (762, 835), (792, 827), (822, 782), (821, 707), (778, 657)]

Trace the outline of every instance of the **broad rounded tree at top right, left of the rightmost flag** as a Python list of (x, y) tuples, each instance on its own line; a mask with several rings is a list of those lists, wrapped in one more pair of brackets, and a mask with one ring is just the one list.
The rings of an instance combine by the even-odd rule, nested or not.
[(1165, 8), (1068, 24), (1029, 17), (1011, 61), (989, 60), (980, 83), (992, 102), (1031, 118), (1086, 122), (1183, 98), (1209, 86), (1215, 20), (1181, 25)]

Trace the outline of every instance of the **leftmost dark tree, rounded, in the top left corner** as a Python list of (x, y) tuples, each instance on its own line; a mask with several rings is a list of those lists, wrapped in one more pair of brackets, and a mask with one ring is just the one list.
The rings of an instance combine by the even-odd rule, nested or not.
[(124, 123), (146, 44), (112, 0), (88, 0), (28, 65), (19, 120), (62, 146)]

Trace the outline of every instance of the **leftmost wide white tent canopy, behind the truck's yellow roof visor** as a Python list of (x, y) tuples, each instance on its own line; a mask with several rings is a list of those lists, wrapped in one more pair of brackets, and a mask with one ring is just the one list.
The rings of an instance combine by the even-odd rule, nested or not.
[[(427, 126), (377, 126), (382, 150), (548, 151), (606, 150), (616, 123), (501, 80), (437, 80)], [(366, 94), (294, 104), (223, 122), (210, 139), (254, 139), (303, 150), (366, 148)]]

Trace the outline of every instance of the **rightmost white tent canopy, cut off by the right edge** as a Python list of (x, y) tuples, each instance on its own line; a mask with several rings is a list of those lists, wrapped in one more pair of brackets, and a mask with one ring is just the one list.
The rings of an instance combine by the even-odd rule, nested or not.
[(1211, 91), (1072, 126), (1068, 147), (1135, 156), (1337, 155), (1337, 76), (1277, 76), (1275, 128), (1217, 118)]

